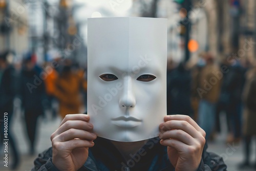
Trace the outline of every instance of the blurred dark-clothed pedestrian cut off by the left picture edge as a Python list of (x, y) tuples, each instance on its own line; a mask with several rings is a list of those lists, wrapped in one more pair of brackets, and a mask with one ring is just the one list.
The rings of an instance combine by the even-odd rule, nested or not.
[[(11, 130), (12, 127), (12, 118), (13, 118), (13, 100), (16, 95), (16, 87), (15, 87), (15, 81), (16, 81), (16, 71), (11, 65), (11, 63), (8, 61), (8, 58), (12, 58), (13, 52), (11, 51), (5, 51), (0, 54), (0, 116), (1, 116), (1, 145), (3, 144), (4, 139), (9, 139), (10, 149), (12, 152), (12, 169), (17, 168), (19, 164), (19, 153), (17, 146), (14, 141), (13, 133)], [(4, 115), (4, 113), (7, 113), (7, 115)], [(6, 116), (6, 118), (4, 118)], [(7, 119), (7, 120), (6, 120)], [(4, 137), (4, 121), (8, 121), (8, 137)]]

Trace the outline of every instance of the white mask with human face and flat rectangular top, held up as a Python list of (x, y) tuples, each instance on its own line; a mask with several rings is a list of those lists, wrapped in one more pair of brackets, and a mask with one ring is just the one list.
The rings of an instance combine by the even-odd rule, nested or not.
[(94, 132), (133, 142), (166, 115), (167, 19), (89, 18), (88, 114)]

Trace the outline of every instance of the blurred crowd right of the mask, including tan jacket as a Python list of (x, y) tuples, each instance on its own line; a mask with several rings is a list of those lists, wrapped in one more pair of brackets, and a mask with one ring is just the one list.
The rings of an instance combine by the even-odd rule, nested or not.
[(241, 60), (236, 54), (217, 58), (203, 52), (195, 65), (168, 62), (167, 113), (194, 118), (206, 132), (207, 141), (213, 141), (221, 133), (224, 115), (228, 129), (226, 143), (244, 142), (245, 158), (240, 168), (250, 165), (251, 139), (256, 135), (255, 97), (253, 59)]

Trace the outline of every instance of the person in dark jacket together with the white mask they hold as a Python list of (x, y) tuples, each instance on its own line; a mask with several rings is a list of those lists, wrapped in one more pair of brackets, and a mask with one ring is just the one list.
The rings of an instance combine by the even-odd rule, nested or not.
[(66, 115), (32, 170), (226, 170), (193, 119), (166, 116), (166, 37), (162, 18), (89, 19), (88, 115)]

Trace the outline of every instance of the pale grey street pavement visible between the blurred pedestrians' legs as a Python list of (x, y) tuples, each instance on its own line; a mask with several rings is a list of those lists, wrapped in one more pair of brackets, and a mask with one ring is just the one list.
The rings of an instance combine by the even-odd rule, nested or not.
[[(23, 116), (20, 112), (16, 113), (15, 118), (13, 119), (13, 127), (12, 130), (15, 134), (15, 140), (18, 144), (18, 149), (21, 154), (21, 163), (16, 169), (17, 171), (28, 171), (31, 170), (33, 167), (33, 161), (36, 158), (37, 155), (30, 156), (28, 151), (28, 141), (25, 138), (25, 131), (23, 123)], [(222, 123), (224, 121), (223, 117)], [(35, 154), (38, 154), (48, 147), (51, 146), (50, 136), (51, 134), (57, 129), (59, 123), (61, 122), (61, 119), (58, 117), (55, 120), (51, 120), (51, 117), (48, 116), (48, 120), (44, 120), (42, 118), (39, 119), (39, 137), (38, 137), (38, 143), (36, 145), (36, 152)], [(243, 161), (243, 144), (232, 144), (232, 143), (225, 143), (227, 132), (226, 127), (224, 123), (222, 124), (222, 134), (218, 135), (214, 142), (209, 142), (208, 145), (208, 152), (214, 152), (218, 155), (221, 155), (223, 159), (225, 160), (225, 163), (227, 164), (227, 170), (231, 171), (239, 171), (237, 168), (237, 165)], [(253, 140), (253, 148), (251, 149), (252, 152), (256, 151), (256, 140)], [(233, 147), (233, 148), (232, 148)], [(252, 156), (252, 161), (255, 161), (255, 153)], [(11, 163), (10, 163), (11, 164)], [(6, 167), (3, 166), (3, 164), (0, 166), (0, 170), (10, 170), (6, 169)], [(240, 169), (241, 171), (252, 171), (254, 169)]]

